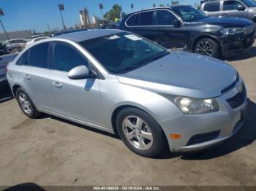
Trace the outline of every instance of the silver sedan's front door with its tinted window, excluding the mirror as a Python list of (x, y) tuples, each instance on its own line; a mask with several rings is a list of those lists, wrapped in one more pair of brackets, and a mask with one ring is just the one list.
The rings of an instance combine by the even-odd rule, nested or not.
[(90, 68), (89, 60), (66, 42), (55, 42), (53, 52), (51, 85), (57, 104), (54, 112), (103, 126), (100, 79), (69, 79), (67, 76), (68, 71), (76, 66), (85, 65)]

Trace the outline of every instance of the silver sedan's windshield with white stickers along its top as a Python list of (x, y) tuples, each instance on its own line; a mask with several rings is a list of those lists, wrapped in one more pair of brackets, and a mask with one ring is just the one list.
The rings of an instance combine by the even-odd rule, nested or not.
[(89, 39), (80, 44), (112, 74), (123, 74), (169, 52), (165, 48), (127, 32)]

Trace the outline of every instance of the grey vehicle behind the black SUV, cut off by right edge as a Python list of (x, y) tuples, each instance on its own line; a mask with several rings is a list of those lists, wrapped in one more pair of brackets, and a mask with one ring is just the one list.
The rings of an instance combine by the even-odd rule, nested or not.
[(206, 0), (200, 9), (207, 15), (244, 17), (256, 23), (256, 3), (251, 0)]

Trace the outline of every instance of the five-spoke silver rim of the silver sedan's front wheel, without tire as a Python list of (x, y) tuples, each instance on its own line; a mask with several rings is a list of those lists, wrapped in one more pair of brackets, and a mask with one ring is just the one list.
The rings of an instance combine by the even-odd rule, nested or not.
[(133, 147), (146, 150), (153, 144), (153, 135), (149, 126), (140, 117), (128, 116), (122, 122), (125, 138)]

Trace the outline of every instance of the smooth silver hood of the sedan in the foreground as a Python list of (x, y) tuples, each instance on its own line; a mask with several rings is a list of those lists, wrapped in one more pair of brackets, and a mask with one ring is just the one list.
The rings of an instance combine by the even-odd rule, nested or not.
[(117, 78), (121, 83), (157, 93), (213, 98), (222, 95), (236, 76), (237, 71), (227, 63), (177, 51)]

